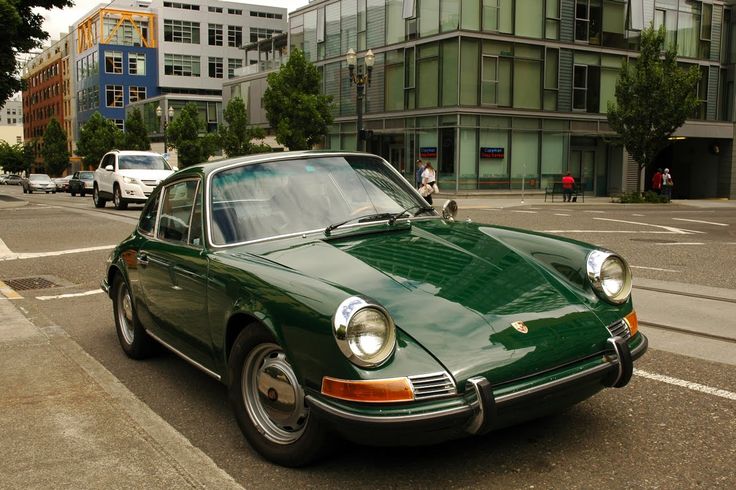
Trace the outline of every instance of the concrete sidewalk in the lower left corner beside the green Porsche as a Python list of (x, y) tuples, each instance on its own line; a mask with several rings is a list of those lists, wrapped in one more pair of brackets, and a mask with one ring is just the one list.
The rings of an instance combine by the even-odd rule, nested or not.
[(0, 488), (242, 488), (60, 327), (0, 295)]

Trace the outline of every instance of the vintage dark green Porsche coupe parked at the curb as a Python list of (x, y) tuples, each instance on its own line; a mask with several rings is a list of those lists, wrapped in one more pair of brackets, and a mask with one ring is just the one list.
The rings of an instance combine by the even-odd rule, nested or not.
[(181, 170), (112, 253), (123, 350), (229, 387), (282, 465), (329, 437), (482, 434), (624, 386), (647, 349), (608, 250), (441, 214), (385, 160), (290, 152)]

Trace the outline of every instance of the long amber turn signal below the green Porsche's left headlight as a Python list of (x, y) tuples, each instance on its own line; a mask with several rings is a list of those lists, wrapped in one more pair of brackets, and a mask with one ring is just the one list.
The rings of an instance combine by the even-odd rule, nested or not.
[(340, 400), (367, 403), (407, 402), (414, 399), (408, 378), (352, 381), (325, 376), (322, 394)]

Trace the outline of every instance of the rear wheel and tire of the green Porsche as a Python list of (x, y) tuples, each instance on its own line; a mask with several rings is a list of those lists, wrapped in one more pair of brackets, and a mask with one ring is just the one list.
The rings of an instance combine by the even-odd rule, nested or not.
[(112, 283), (112, 309), (115, 330), (123, 352), (133, 359), (149, 357), (153, 352), (154, 341), (138, 321), (128, 283), (119, 274)]

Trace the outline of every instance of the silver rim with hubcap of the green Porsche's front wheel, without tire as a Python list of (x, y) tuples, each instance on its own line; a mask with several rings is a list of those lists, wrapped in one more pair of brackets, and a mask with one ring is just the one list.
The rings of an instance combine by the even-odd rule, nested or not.
[(307, 426), (309, 410), (286, 354), (276, 344), (255, 347), (243, 364), (245, 408), (258, 431), (276, 444), (291, 444)]

